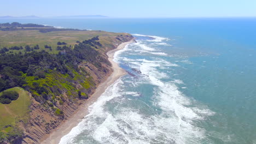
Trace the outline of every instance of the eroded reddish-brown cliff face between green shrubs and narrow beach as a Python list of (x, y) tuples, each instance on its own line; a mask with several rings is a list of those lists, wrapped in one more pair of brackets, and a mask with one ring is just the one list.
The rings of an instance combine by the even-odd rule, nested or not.
[[(96, 49), (101, 53), (100, 59), (102, 59), (102, 61), (106, 61), (108, 58), (106, 55), (107, 51), (113, 50), (117, 48), (119, 44), (133, 39), (132, 35), (130, 34), (118, 35), (117, 37), (98, 38), (98, 41), (102, 44), (102, 46), (97, 46)], [(86, 99), (90, 98), (95, 92), (97, 86), (101, 82), (105, 81), (112, 73), (110, 62), (107, 61), (100, 63), (101, 64), (98, 67), (90, 62), (79, 63), (79, 69), (86, 72), (86, 75), (83, 76), (89, 80), (89, 88), (84, 88), (86, 85), (82, 85), (79, 78), (69, 81), (72, 82), (75, 89), (84, 89), (82, 90), (82, 95), (86, 95), (85, 98), (71, 98), (69, 96), (69, 90), (62, 89), (62, 91), (60, 91), (60, 95), (56, 96), (57, 100), (55, 100), (53, 108), (49, 106), (51, 104), (49, 104), (47, 101), (46, 103), (42, 104), (31, 97), (32, 104), (30, 106), (30, 119), (28, 123), (21, 124), (21, 128), (24, 130), (24, 136), (22, 137), (22, 140), (19, 140), (18, 143), (42, 142), (42, 140), (45, 139), (48, 134), (60, 127), (60, 125), (65, 122), (66, 119), (74, 115), (74, 113), (79, 109), (79, 106), (86, 103)], [(57, 113), (56, 109), (61, 110), (61, 112)]]

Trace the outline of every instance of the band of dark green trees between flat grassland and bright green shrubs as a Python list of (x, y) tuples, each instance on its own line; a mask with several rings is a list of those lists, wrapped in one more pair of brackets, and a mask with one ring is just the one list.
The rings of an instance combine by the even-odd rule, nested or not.
[[(95, 40), (96, 38), (90, 41), (95, 46), (102, 46), (100, 43), (95, 43)], [(25, 49), (28, 47), (25, 46)], [(72, 76), (71, 69), (79, 73), (78, 65), (83, 61), (95, 65), (98, 69), (103, 68), (102, 63), (110, 65), (108, 60), (90, 44), (79, 43), (74, 45), (74, 49), (65, 45), (60, 50), (65, 50), (65, 53), (60, 51), (57, 54), (50, 54), (44, 50), (24, 54), (1, 53), (0, 92), (16, 86), (30, 91), (31, 87), (26, 87), (26, 77), (34, 76), (34, 79), (45, 79), (45, 74), (49, 73), (49, 70)], [(48, 93), (43, 87), (38, 87), (36, 91), (39, 94)]]

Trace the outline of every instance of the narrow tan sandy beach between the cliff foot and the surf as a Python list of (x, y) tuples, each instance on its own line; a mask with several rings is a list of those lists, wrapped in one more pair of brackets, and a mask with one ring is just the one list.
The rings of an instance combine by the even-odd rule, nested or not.
[(47, 137), (45, 136), (45, 139), (40, 143), (59, 143), (63, 136), (67, 135), (72, 130), (72, 128), (76, 127), (82, 121), (82, 119), (89, 114), (88, 107), (92, 105), (101, 96), (101, 94), (104, 93), (110, 85), (112, 85), (112, 83), (114, 83), (121, 76), (126, 74), (126, 71), (120, 68), (118, 63), (113, 61), (114, 54), (115, 52), (124, 49), (127, 44), (133, 43), (133, 41), (134, 39), (125, 43), (121, 43), (116, 49), (107, 52), (108, 61), (112, 64), (112, 74), (107, 78), (106, 81), (100, 83), (100, 85), (96, 88), (94, 94), (92, 94), (91, 97), (86, 100), (86, 102), (82, 106), (79, 107), (77, 112), (75, 112), (72, 117), (69, 117), (65, 122), (60, 125), (59, 128), (55, 129), (52, 133), (46, 135)]

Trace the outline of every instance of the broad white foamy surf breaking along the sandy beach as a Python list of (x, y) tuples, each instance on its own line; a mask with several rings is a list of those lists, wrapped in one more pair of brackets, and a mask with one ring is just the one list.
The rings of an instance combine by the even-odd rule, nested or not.
[[(144, 37), (144, 36), (143, 36)], [(170, 67), (179, 67), (165, 60), (166, 57), (144, 57), (132, 59), (121, 57), (122, 52), (135, 53), (135, 49), (146, 50), (140, 44), (130, 44), (114, 55), (131, 68), (139, 69), (143, 76), (126, 76), (106, 89), (98, 100), (89, 107), (86, 116), (71, 133), (62, 137), (60, 143), (202, 143), (206, 130), (197, 127), (195, 121), (203, 121), (214, 112), (207, 107), (198, 106), (184, 95), (177, 84), (182, 80), (166, 81), (172, 75)], [(147, 46), (146, 44), (144, 44)], [(152, 86), (153, 97), (134, 92), (135, 88)], [(132, 90), (127, 90), (130, 88)], [(183, 88), (183, 87), (182, 87)], [(126, 97), (131, 95), (137, 98)], [(140, 98), (150, 99), (150, 103)], [(136, 101), (134, 100), (136, 99)], [(158, 109), (161, 112), (158, 111)], [(146, 112), (145, 112), (146, 111)], [(82, 139), (82, 140), (81, 140)], [(76, 141), (77, 140), (77, 141)], [(211, 142), (207, 142), (211, 143)]]

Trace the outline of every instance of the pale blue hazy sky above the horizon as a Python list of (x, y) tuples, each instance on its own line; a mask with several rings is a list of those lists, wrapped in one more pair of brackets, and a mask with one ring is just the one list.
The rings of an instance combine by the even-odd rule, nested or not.
[(10, 0), (0, 16), (106, 15), (110, 17), (256, 16), (256, 0)]

